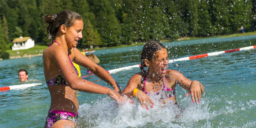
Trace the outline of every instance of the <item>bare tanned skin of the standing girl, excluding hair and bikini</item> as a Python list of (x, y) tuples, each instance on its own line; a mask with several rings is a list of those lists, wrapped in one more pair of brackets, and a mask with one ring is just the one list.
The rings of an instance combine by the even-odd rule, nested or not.
[[(119, 85), (109, 73), (91, 61), (91, 59), (84, 56), (76, 48), (78, 40), (82, 38), (82, 30), (82, 20), (76, 20), (74, 25), (69, 28), (61, 25), (55, 38), (55, 41), (59, 45), (54, 42), (43, 53), (45, 80), (50, 80), (61, 74), (68, 83), (68, 85), (48, 85), (51, 95), (50, 110), (78, 112), (79, 105), (78, 99), (76, 98), (76, 91), (106, 94), (118, 102), (126, 100), (126, 98), (117, 93), (120, 91)], [(109, 83), (115, 91), (79, 78), (69, 57), (78, 65), (90, 69), (96, 76)]]

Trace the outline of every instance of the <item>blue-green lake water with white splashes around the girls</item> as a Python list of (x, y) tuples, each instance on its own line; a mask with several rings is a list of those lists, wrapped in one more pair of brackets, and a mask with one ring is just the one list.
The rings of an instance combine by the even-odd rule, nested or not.
[[(163, 43), (168, 46), (169, 59), (230, 50), (256, 45), (256, 36), (208, 38)], [(140, 64), (143, 46), (129, 46), (96, 50), (99, 65), (106, 70)], [(42, 56), (31, 59), (0, 61), (0, 87), (22, 84), (18, 70), (26, 69), (29, 80), (25, 83), (43, 85), (20, 90), (0, 92), (1, 128), (43, 128), (50, 107), (50, 93), (45, 84)], [(82, 76), (88, 75), (80, 67)], [(186, 91), (176, 88), (178, 104), (184, 109), (175, 118), (173, 103), (141, 108), (139, 102), (118, 106), (106, 95), (78, 92), (80, 104), (78, 128), (252, 128), (256, 125), (256, 51), (225, 53), (208, 58), (180, 61), (169, 64), (169, 69), (182, 72), (190, 80), (198, 80), (205, 87), (199, 104), (185, 97)], [(124, 89), (130, 77), (139, 68), (111, 74)], [(95, 75), (84, 78), (106, 85)], [(24, 82), (23, 82), (24, 83)], [(154, 99), (154, 97), (152, 97)]]

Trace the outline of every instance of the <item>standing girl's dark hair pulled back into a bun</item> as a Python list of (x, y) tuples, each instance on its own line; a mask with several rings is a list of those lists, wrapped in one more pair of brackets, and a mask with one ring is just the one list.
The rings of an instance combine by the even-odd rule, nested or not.
[(58, 28), (64, 24), (67, 28), (73, 26), (76, 20), (83, 20), (82, 17), (70, 10), (63, 10), (55, 15), (45, 15), (45, 23), (48, 23), (48, 27), (45, 29), (48, 35), (48, 39), (54, 41)]

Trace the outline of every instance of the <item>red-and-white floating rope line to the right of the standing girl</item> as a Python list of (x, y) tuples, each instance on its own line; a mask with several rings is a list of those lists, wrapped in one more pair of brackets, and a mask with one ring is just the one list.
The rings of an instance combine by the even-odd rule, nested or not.
[[(251, 50), (251, 49), (255, 49), (256, 45), (254, 46), (247, 46), (247, 47), (243, 47), (243, 48), (237, 48), (237, 49), (232, 49), (232, 50), (226, 50), (226, 51), (219, 51), (219, 52), (211, 52), (211, 53), (207, 53), (207, 54), (200, 54), (200, 55), (196, 55), (196, 56), (189, 56), (189, 57), (185, 57), (185, 58), (179, 58), (179, 59), (172, 59), (169, 60), (169, 63), (174, 63), (177, 61), (187, 61), (190, 59), (199, 59), (199, 58), (204, 58), (206, 56), (217, 56), (223, 53), (228, 53), (228, 52), (237, 52), (237, 51), (243, 51), (243, 50)], [(118, 69), (112, 69), (109, 70), (109, 73), (115, 73), (115, 72), (119, 72), (121, 70), (127, 70), (127, 69), (132, 69), (135, 67), (141, 67), (141, 65), (132, 65), (132, 66), (127, 66), (127, 67), (122, 67), (122, 68), (118, 68)], [(86, 77), (86, 76), (82, 76), (81, 78)]]

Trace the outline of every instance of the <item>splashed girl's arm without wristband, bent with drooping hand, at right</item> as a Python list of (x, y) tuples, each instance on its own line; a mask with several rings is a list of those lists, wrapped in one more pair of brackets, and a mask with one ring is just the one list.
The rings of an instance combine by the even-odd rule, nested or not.
[(200, 82), (196, 80), (191, 81), (187, 79), (182, 73), (176, 70), (171, 70), (170, 72), (168, 72), (168, 76), (174, 78), (177, 84), (179, 84), (181, 87), (188, 91), (186, 96), (188, 96), (189, 93), (191, 94), (193, 102), (197, 103), (197, 101), (200, 101), (201, 94), (204, 93), (204, 86)]

